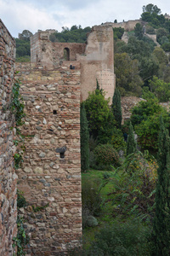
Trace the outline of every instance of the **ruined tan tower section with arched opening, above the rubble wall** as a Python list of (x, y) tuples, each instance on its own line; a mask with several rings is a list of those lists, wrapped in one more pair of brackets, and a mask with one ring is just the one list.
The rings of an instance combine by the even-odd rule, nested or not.
[(69, 64), (81, 71), (81, 101), (96, 89), (96, 79), (105, 90), (105, 97), (112, 97), (116, 83), (112, 26), (94, 26), (87, 44), (52, 43), (51, 32), (40, 31), (31, 37), (31, 62), (42, 63), (44, 68), (57, 68), (65, 61), (65, 49)]

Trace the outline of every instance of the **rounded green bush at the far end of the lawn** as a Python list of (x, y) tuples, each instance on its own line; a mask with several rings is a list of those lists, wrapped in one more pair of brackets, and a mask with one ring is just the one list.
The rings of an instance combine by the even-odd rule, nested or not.
[(118, 166), (119, 155), (111, 144), (101, 144), (94, 149), (97, 165)]

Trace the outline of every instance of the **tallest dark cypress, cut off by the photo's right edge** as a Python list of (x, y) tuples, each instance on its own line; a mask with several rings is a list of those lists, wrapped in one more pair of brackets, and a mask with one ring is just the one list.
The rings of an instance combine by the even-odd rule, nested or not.
[(168, 131), (164, 127), (162, 117), (160, 118), (160, 122), (156, 215), (153, 226), (155, 241), (154, 255), (167, 256), (170, 255), (170, 143)]

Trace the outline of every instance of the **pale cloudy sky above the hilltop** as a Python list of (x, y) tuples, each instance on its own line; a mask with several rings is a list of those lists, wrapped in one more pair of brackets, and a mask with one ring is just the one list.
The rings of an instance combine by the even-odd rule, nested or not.
[[(138, 0), (0, 0), (0, 19), (14, 38), (27, 29), (56, 29), (73, 25), (94, 26), (102, 22), (137, 20), (143, 5), (149, 1)], [(170, 15), (170, 1), (151, 2)]]

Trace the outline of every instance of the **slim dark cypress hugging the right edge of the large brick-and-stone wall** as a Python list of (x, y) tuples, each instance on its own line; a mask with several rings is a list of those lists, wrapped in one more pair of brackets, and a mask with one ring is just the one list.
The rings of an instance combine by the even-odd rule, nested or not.
[(85, 172), (89, 169), (89, 133), (88, 133), (88, 120), (86, 117), (86, 109), (84, 104), (82, 104), (81, 114), (80, 114), (80, 125), (81, 125), (81, 169)]

